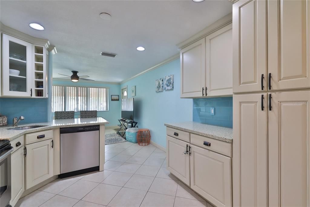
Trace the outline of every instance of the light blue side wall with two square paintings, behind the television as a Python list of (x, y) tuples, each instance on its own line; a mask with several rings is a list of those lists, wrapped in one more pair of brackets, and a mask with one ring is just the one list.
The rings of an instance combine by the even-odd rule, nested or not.
[[(174, 75), (174, 90), (155, 92), (155, 80)], [(180, 98), (180, 60), (177, 59), (157, 69), (138, 76), (121, 85), (128, 86), (128, 98), (131, 87), (136, 86), (135, 121), (139, 128), (148, 128), (151, 140), (166, 147), (166, 127), (164, 123), (192, 121), (193, 100)]]

